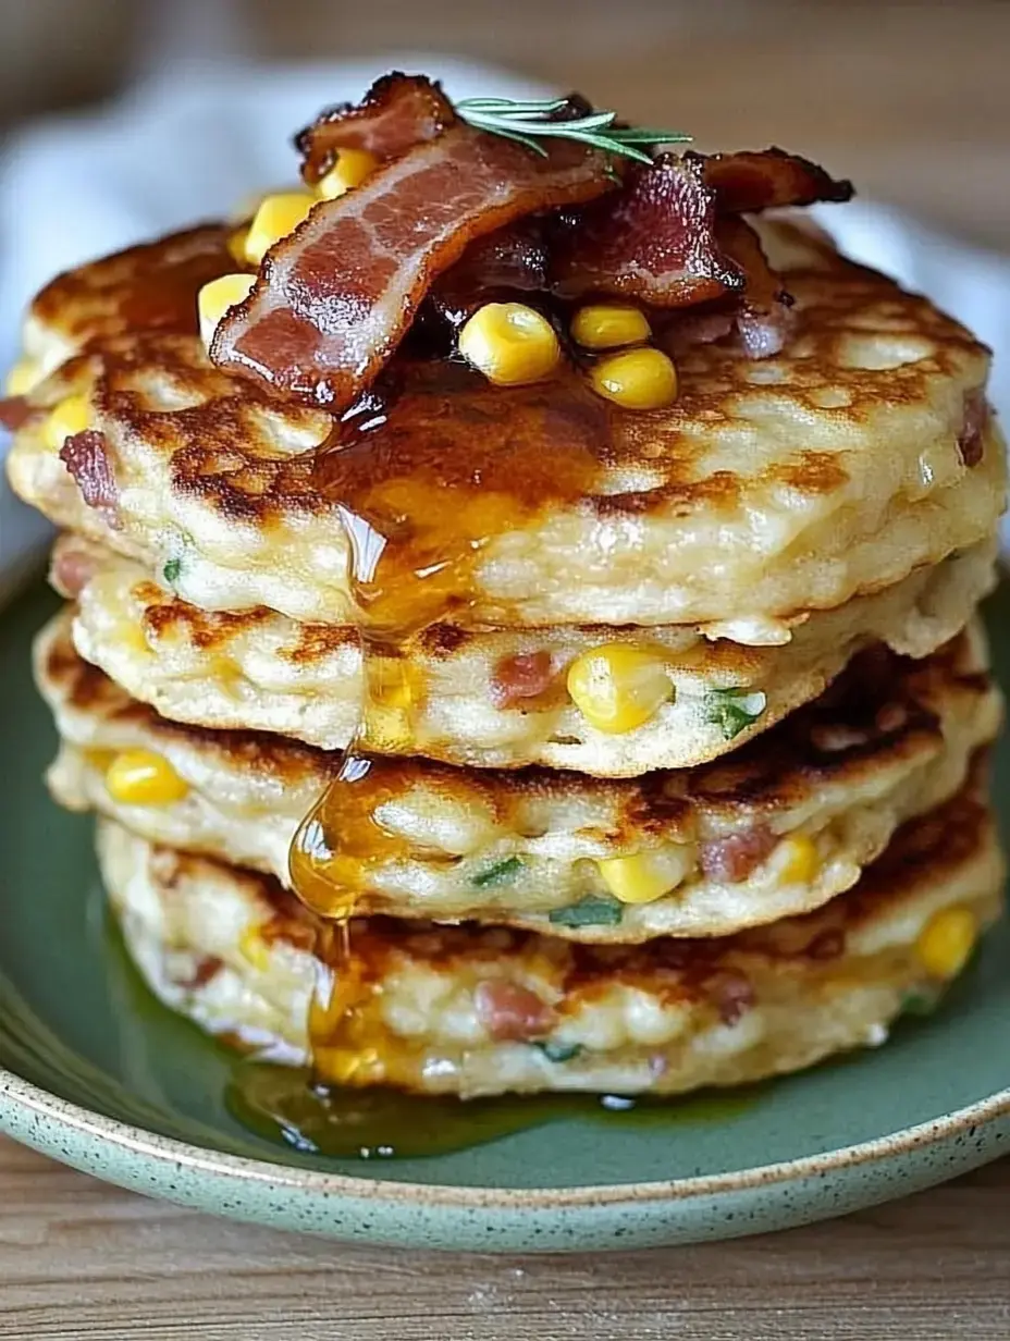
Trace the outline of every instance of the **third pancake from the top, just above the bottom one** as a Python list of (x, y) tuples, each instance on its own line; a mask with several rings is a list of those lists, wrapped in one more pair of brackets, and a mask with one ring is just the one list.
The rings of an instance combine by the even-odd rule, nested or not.
[[(978, 626), (925, 661), (869, 649), (731, 759), (636, 782), (377, 762), (346, 817), (347, 850), (314, 861), (300, 888), (321, 912), (349, 888), (361, 915), (582, 941), (722, 936), (807, 912), (964, 786), (999, 727), (985, 665)], [(288, 849), (339, 755), (165, 721), (74, 653), (64, 620), (39, 642), (38, 679), (62, 738), (48, 774), (58, 801), (288, 882)], [(106, 782), (137, 750), (181, 779), (158, 803), (127, 803)]]

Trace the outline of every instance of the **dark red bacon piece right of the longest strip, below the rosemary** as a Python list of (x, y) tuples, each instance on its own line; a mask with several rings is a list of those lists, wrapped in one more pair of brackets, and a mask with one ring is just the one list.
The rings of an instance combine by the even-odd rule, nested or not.
[(566, 298), (614, 294), (656, 307), (739, 292), (743, 278), (715, 225), (703, 160), (661, 154), (632, 169), (622, 190), (569, 213), (551, 247), (554, 287)]

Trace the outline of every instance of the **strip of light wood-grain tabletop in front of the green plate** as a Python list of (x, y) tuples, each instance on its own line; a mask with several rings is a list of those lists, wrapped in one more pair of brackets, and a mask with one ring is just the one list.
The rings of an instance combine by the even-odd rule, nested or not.
[(0, 1337), (1010, 1337), (1010, 1161), (786, 1234), (652, 1252), (345, 1247), (103, 1187), (0, 1140)]

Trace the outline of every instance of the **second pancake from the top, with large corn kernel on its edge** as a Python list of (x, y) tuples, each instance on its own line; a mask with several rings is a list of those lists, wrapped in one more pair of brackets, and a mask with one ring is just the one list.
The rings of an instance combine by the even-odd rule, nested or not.
[[(942, 646), (991, 587), (994, 562), (995, 540), (983, 542), (876, 595), (799, 620), (786, 642), (763, 648), (710, 641), (691, 626), (475, 633), (439, 625), (401, 658), (409, 709), (382, 711), (378, 720), (373, 713), (368, 744), (456, 764), (539, 764), (596, 776), (689, 767), (738, 748), (820, 695), (871, 642), (913, 657)], [(347, 746), (362, 669), (346, 625), (298, 624), (267, 609), (203, 611), (150, 581), (137, 562), (78, 536), (58, 543), (52, 573), (56, 587), (76, 597), (80, 654), (162, 716), (278, 732), (323, 750)], [(566, 688), (578, 654), (614, 642), (651, 649), (669, 679), (653, 716), (620, 734), (594, 727)], [(520, 677), (514, 695), (523, 666), (543, 675)], [(740, 700), (752, 711), (727, 716)]]

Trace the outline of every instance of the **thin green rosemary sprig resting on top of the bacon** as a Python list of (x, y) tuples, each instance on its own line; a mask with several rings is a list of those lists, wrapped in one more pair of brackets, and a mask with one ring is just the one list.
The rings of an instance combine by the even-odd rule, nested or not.
[(622, 158), (634, 158), (641, 164), (651, 164), (652, 154), (638, 145), (655, 149), (657, 145), (681, 145), (691, 139), (691, 135), (683, 135), (677, 130), (614, 126), (616, 111), (590, 111), (582, 117), (558, 119), (558, 113), (567, 106), (567, 98), (527, 102), (512, 98), (464, 98), (456, 103), (456, 111), (478, 130), (514, 139), (545, 158), (547, 150), (541, 139), (577, 139), (582, 145)]

